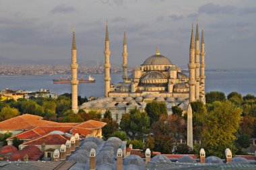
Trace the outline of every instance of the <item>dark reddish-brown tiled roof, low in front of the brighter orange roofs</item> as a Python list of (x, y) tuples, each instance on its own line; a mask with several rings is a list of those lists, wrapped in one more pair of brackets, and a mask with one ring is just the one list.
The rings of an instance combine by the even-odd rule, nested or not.
[(67, 140), (69, 140), (67, 136), (63, 136), (61, 134), (46, 134), (40, 138), (36, 138), (34, 140), (30, 140), (28, 142), (24, 142), (22, 145), (41, 145), (42, 143), (48, 144), (65, 144)]

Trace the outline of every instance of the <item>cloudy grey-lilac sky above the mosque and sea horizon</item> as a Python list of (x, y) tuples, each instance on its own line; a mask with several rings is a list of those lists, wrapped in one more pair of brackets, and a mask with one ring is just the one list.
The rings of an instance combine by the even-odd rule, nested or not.
[(126, 29), (129, 66), (142, 64), (159, 44), (162, 55), (186, 67), (198, 20), (206, 69), (256, 69), (255, 18), (255, 0), (0, 0), (0, 57), (71, 58), (75, 26), (78, 62), (104, 62), (107, 19), (113, 65), (122, 64)]

